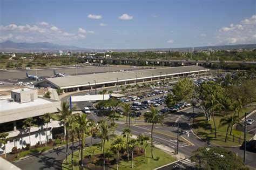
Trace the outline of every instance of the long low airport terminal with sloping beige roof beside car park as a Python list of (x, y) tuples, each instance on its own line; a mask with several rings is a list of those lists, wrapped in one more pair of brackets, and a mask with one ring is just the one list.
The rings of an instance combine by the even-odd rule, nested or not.
[(52, 87), (63, 89), (64, 92), (88, 90), (100, 87), (119, 86), (162, 80), (166, 78), (187, 77), (191, 74), (204, 74), (209, 70), (201, 66), (165, 67), (159, 69), (136, 70), (125, 72), (109, 72), (46, 78), (35, 83), (36, 87)]

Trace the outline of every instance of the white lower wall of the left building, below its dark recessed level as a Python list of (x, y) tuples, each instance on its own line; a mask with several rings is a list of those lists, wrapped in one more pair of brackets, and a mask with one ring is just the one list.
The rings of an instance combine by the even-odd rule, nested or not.
[[(48, 124), (48, 140), (52, 139), (52, 128), (63, 126), (59, 123), (59, 121), (51, 121), (51, 123)], [(36, 145), (36, 143), (42, 142), (42, 144), (45, 143), (45, 135), (46, 135), (46, 124), (42, 125), (40, 127), (31, 127), (31, 146)], [(6, 146), (6, 153), (11, 152), (11, 149), (15, 146), (17, 148), (26, 147), (26, 144), (29, 144), (29, 129), (25, 130), (17, 130), (17, 131), (11, 131), (9, 132), (8, 138), (12, 138), (11, 141), (8, 141)], [(4, 154), (4, 145), (0, 144), (0, 155)], [(1, 151), (3, 150), (3, 151)]]

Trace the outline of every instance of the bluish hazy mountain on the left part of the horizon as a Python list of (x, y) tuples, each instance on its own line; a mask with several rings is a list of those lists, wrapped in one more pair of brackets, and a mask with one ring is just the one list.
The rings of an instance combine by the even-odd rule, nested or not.
[(6, 40), (0, 43), (0, 51), (14, 51), (14, 52), (25, 52), (25, 51), (56, 51), (56, 50), (86, 50), (77, 46), (66, 46), (57, 45), (48, 42), (39, 43), (15, 43), (11, 40)]

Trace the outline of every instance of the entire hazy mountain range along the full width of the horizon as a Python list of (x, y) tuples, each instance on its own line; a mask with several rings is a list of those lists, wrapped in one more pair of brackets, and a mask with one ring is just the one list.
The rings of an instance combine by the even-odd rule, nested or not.
[[(233, 50), (233, 49), (256, 49), (256, 44), (237, 44), (237, 45), (217, 45), (217, 46), (201, 46), (194, 47), (194, 51), (201, 50)], [(90, 52), (92, 49), (68, 46), (68, 45), (57, 45), (48, 42), (38, 43), (15, 43), (11, 40), (6, 40), (0, 43), (1, 52), (58, 52), (58, 50), (71, 50), (73, 52)], [(95, 49), (93, 49), (95, 50)], [(136, 51), (192, 51), (192, 47), (181, 47), (181, 48), (159, 48), (159, 49), (114, 49), (113, 51), (118, 52), (136, 52)], [(104, 49), (97, 49), (98, 52), (104, 52)]]

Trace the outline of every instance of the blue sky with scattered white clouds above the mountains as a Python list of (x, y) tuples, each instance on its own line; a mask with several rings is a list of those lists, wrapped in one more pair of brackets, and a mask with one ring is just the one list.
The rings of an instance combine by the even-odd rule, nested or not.
[(0, 42), (92, 49), (256, 43), (255, 0), (0, 0)]

